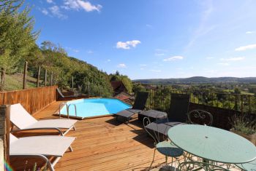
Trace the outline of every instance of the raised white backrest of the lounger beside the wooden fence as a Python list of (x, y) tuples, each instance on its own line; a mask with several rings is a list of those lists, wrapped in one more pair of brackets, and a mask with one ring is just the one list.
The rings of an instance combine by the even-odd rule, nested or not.
[(10, 107), (10, 121), (22, 130), (29, 125), (36, 123), (37, 119), (34, 119), (34, 117), (31, 116), (20, 103), (18, 103), (11, 105)]

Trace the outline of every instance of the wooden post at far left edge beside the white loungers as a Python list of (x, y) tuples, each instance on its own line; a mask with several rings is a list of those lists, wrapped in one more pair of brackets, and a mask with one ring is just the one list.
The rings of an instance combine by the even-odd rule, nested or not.
[(0, 106), (0, 170), (5, 170), (4, 162), (10, 157), (10, 106)]

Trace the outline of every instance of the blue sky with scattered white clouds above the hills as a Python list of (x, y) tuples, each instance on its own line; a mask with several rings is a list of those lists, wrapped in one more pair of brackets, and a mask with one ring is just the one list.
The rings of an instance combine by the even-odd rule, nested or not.
[(40, 0), (37, 43), (131, 79), (256, 76), (256, 1)]

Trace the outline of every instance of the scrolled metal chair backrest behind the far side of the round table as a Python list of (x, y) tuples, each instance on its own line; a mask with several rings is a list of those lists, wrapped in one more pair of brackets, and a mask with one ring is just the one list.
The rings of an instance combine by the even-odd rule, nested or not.
[(187, 114), (189, 124), (205, 124), (211, 126), (213, 116), (208, 111), (200, 109), (189, 111)]

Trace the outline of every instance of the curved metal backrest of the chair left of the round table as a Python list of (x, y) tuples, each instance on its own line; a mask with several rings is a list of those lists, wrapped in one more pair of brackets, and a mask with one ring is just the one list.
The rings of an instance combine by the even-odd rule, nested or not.
[[(161, 118), (160, 116), (162, 115), (159, 114), (159, 117), (157, 118)], [(146, 130), (146, 132), (148, 132), (148, 135), (150, 135), (154, 139), (155, 145), (157, 145), (157, 143), (159, 143), (160, 141), (167, 139), (165, 134), (160, 133), (160, 132), (167, 132), (168, 129), (170, 128), (168, 127), (167, 124), (165, 124), (165, 122), (168, 122), (167, 118), (157, 119), (155, 122), (151, 122), (148, 117), (143, 118), (144, 130)], [(151, 129), (148, 129), (148, 127), (146, 127), (148, 126), (148, 124), (151, 125)]]

